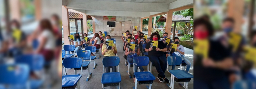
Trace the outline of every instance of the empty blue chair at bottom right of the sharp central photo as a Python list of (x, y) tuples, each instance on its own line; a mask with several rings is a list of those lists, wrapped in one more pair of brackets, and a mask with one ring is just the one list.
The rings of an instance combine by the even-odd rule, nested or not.
[[(180, 56), (169, 56), (167, 57), (167, 67), (169, 65), (175, 66), (175, 65), (181, 65), (182, 62), (182, 58)], [(174, 80), (176, 82), (184, 82), (183, 87), (184, 88), (188, 88), (188, 84), (189, 81), (191, 80), (191, 78), (193, 78), (194, 76), (191, 75), (190, 73), (184, 71), (184, 70), (168, 70), (168, 72), (171, 74), (171, 83), (166, 84), (168, 87), (170, 87), (171, 89), (173, 89), (174, 86)]]

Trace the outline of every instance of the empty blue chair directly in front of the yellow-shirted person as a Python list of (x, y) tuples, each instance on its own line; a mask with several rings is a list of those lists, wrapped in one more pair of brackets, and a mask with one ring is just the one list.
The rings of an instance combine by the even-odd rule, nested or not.
[[(120, 89), (120, 82), (121, 82), (121, 74), (119, 72), (119, 63), (120, 58), (119, 57), (105, 57), (102, 60), (103, 64), (103, 74), (101, 77), (101, 83), (102, 83), (102, 89), (105, 89), (104, 87), (108, 86), (117, 86), (118, 89)], [(112, 67), (112, 66), (118, 66), (118, 72), (111, 72), (111, 73), (105, 73), (105, 67)]]

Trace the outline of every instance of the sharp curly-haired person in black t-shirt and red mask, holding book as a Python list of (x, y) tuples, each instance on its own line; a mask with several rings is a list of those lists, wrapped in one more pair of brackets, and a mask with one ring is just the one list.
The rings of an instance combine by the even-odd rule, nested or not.
[(167, 69), (166, 56), (164, 55), (164, 52), (167, 51), (166, 45), (164, 44), (164, 42), (159, 41), (160, 35), (157, 33), (152, 33), (150, 39), (158, 41), (158, 47), (155, 48), (155, 50), (153, 50), (153, 48), (151, 47), (152, 41), (148, 42), (145, 49), (145, 51), (148, 52), (149, 60), (153, 64), (155, 64), (156, 70), (158, 72), (157, 79), (162, 83), (164, 81), (166, 83), (170, 83), (170, 81), (164, 75), (165, 70)]

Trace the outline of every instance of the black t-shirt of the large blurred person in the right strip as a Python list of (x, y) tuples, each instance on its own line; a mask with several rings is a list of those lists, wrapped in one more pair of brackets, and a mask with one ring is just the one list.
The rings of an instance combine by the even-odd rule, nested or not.
[[(223, 61), (223, 59), (231, 57), (231, 49), (224, 47), (219, 41), (209, 41), (209, 58), (214, 61)], [(194, 79), (201, 81), (214, 81), (218, 78), (226, 77), (227, 71), (203, 67), (201, 55), (195, 55), (196, 61), (194, 62)]]

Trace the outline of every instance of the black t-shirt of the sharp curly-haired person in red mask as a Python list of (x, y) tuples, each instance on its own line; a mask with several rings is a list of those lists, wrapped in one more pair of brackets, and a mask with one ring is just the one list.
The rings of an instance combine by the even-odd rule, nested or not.
[[(148, 42), (148, 44), (146, 45), (146, 49), (149, 49), (149, 48), (150, 48), (150, 43), (151, 43), (151, 42), (152, 42), (152, 41)], [(158, 48), (159, 48), (159, 49), (164, 49), (164, 48), (166, 48), (166, 45), (164, 44), (163, 41), (159, 41), (159, 40), (158, 40)], [(153, 56), (159, 57), (159, 56), (164, 55), (164, 52), (162, 52), (162, 51), (156, 51), (156, 50), (151, 50), (151, 51), (148, 52), (148, 55), (153, 55)]]

